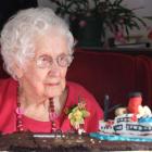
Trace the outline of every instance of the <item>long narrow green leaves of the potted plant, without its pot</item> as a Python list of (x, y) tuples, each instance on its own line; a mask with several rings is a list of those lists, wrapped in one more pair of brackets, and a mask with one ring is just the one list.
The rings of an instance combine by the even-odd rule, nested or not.
[(85, 17), (92, 17), (100, 22), (101, 37), (103, 38), (106, 36), (105, 28), (107, 27), (114, 36), (118, 33), (129, 36), (130, 29), (140, 29), (140, 24), (145, 26), (143, 20), (136, 15), (135, 9), (123, 5), (123, 0), (92, 0), (92, 7), (88, 0), (50, 1), (56, 4), (58, 14), (69, 15), (69, 22), (77, 21), (79, 26), (85, 27), (87, 25)]

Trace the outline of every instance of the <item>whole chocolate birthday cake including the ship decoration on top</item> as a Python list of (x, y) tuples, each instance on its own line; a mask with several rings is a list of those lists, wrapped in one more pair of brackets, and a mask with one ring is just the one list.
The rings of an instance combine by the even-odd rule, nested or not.
[(0, 151), (100, 152), (152, 150), (152, 114), (134, 97), (127, 107), (116, 110), (116, 117), (99, 122), (99, 132), (0, 135)]

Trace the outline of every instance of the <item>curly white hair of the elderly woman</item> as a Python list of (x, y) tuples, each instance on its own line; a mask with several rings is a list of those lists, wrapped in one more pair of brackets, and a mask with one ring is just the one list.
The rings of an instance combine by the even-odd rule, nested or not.
[(66, 36), (68, 51), (72, 54), (74, 38), (68, 25), (64, 20), (56, 16), (51, 9), (31, 8), (23, 10), (8, 21), (1, 31), (0, 41), (5, 69), (12, 77), (16, 77), (13, 64), (17, 63), (24, 68), (29, 58), (35, 55), (35, 37), (39, 34), (46, 34), (51, 27)]

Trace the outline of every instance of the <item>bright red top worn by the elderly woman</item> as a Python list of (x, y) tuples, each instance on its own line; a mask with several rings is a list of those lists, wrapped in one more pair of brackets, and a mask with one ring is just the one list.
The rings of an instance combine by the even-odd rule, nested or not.
[[(72, 107), (78, 103), (78, 97), (85, 98), (86, 109), (90, 116), (85, 119), (85, 130), (87, 132), (98, 131), (99, 121), (103, 118), (103, 111), (96, 99), (84, 87), (78, 84), (67, 81), (68, 96), (64, 107)], [(0, 131), (16, 131), (16, 100), (17, 83), (12, 78), (0, 80)], [(62, 112), (55, 119), (56, 128), (62, 131), (72, 129), (67, 115)], [(39, 122), (23, 115), (24, 130), (33, 132), (50, 132), (50, 122)]]

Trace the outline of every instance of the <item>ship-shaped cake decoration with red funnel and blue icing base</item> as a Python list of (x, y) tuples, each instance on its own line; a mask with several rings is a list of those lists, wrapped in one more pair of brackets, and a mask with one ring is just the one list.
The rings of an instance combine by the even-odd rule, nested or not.
[(99, 122), (97, 136), (104, 140), (152, 141), (152, 113), (141, 104), (141, 93), (130, 93), (128, 106), (116, 109), (114, 119)]

